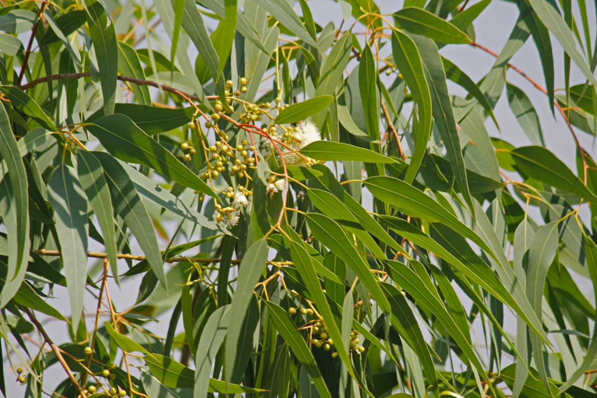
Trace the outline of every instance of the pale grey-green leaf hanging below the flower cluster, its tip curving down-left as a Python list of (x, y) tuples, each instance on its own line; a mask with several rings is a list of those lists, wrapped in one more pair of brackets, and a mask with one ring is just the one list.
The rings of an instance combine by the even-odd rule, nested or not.
[(253, 289), (266, 267), (267, 261), (267, 239), (261, 238), (248, 248), (242, 257), (238, 271), (238, 284), (230, 303), (230, 319), (234, 319), (229, 325), (226, 337), (224, 360), (224, 371), (226, 380), (232, 377), (233, 364), (236, 358), (236, 347), (241, 332), (242, 320), (245, 319), (247, 308), (253, 295)]

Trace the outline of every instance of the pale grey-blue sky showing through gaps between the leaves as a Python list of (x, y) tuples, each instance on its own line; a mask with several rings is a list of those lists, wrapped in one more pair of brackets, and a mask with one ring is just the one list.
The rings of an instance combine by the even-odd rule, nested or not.
[[(469, 5), (476, 2), (477, 1), (470, 1)], [(376, 3), (380, 5), (382, 13), (392, 13), (393, 11), (401, 8), (403, 2), (401, 0), (378, 0)], [(340, 5), (338, 5), (336, 2), (331, 0), (310, 0), (309, 5), (312, 7), (313, 18), (315, 18), (316, 23), (324, 26), (329, 21), (333, 21), (336, 27), (339, 26), (342, 17)], [(587, 5), (589, 6), (589, 20), (593, 21), (593, 25), (591, 26), (591, 37), (595, 38), (595, 2), (587, 2)], [(295, 8), (300, 13), (300, 7)], [(501, 48), (506, 43), (512, 27), (515, 24), (516, 17), (518, 17), (518, 8), (516, 5), (513, 5), (510, 2), (494, 0), (481, 14), (481, 16), (475, 20), (474, 26), (476, 30), (476, 42), (484, 45), (487, 48), (490, 48), (496, 53), (500, 53)], [(344, 26), (346, 26), (346, 24)], [(167, 37), (163, 31), (159, 32), (158, 30), (158, 34), (161, 37)], [(26, 44), (26, 42), (24, 42), (24, 44)], [(555, 85), (556, 88), (561, 88), (564, 87), (564, 63), (562, 50), (553, 38), (552, 44), (553, 53), (555, 55)], [(141, 44), (139, 48), (143, 47), (144, 45)], [(190, 49), (189, 53), (196, 54), (196, 51), (194, 49)], [(469, 45), (448, 45), (442, 48), (441, 54), (456, 63), (474, 81), (481, 79), (490, 70), (494, 63), (494, 57)], [(194, 59), (194, 55), (192, 59)], [(545, 84), (543, 72), (541, 71), (541, 64), (537, 49), (531, 38), (528, 39), (524, 47), (522, 47), (522, 49), (516, 53), (516, 55), (512, 58), (511, 63), (524, 70), (524, 72), (528, 73), (528, 75), (530, 75), (534, 80), (544, 87)], [(564, 121), (562, 121), (562, 118), (559, 117), (559, 115), (556, 115), (554, 119), (549, 107), (547, 107), (547, 99), (545, 95), (536, 90), (533, 85), (528, 83), (528, 81), (512, 70), (507, 72), (507, 80), (524, 90), (535, 106), (540, 117), (541, 128), (543, 129), (547, 148), (576, 171), (576, 165), (574, 165), (575, 147), (573, 140), (571, 139), (570, 132), (567, 130)], [(583, 75), (581, 75), (576, 66), (573, 64), (571, 85), (583, 83), (584, 81), (585, 79)], [(449, 87), (451, 93), (453, 94), (464, 94), (464, 91), (456, 85), (450, 84)], [(518, 125), (518, 122), (516, 121), (507, 104), (506, 95), (501, 96), (494, 112), (497, 121), (500, 124), (501, 131), (497, 131), (497, 128), (492, 122), (487, 122), (486, 127), (492, 136), (503, 138), (504, 140), (515, 144), (515, 146), (524, 146), (530, 144), (530, 141), (522, 131), (521, 127)], [(596, 148), (593, 137), (581, 131), (578, 131), (577, 135), (584, 149), (586, 149), (587, 152), (589, 152), (590, 155), (595, 158)], [(199, 239), (199, 236), (193, 237), (193, 239)], [(161, 249), (164, 249), (168, 242), (167, 240), (162, 239), (159, 240), (159, 244)], [(90, 247), (90, 249), (101, 250), (103, 248), (99, 246), (97, 248)], [(140, 251), (137, 252), (140, 254)], [(90, 264), (93, 263), (94, 262), (90, 262)], [(125, 270), (126, 265), (124, 262), (119, 264), (119, 266), (121, 272)], [(167, 265), (166, 267), (170, 266)], [(124, 310), (125, 308), (133, 305), (139, 290), (140, 280), (140, 277), (134, 277), (125, 280), (121, 283), (120, 287), (116, 286), (114, 283), (110, 283), (110, 293), (112, 294), (112, 299), (115, 301), (117, 308)], [(50, 303), (64, 311), (64, 314), (69, 314), (70, 307), (68, 301), (66, 300), (66, 289), (57, 286), (54, 289), (54, 294), (56, 294), (57, 297), (53, 300), (50, 300)], [(588, 296), (589, 300), (592, 301), (592, 295)], [(94, 313), (96, 308), (96, 300), (94, 300), (91, 295), (87, 295), (86, 304), (87, 312)], [(165, 336), (168, 328), (169, 318), (168, 316), (162, 316), (160, 317), (160, 320), (161, 322), (152, 326), (152, 330), (159, 335)], [(515, 331), (515, 325), (512, 325), (512, 320), (513, 317), (507, 317), (506, 330), (510, 332)], [(87, 318), (88, 330), (91, 329), (92, 325), (93, 318)], [(56, 338), (56, 343), (69, 340), (63, 323), (50, 322), (47, 324), (47, 330), (51, 337)], [(179, 331), (182, 331), (181, 325), (179, 325)], [(475, 341), (481, 341), (481, 339), (482, 336), (477, 336)], [(35, 353), (36, 350), (34, 349), (33, 352)], [(13, 358), (16, 359), (14, 356)], [(18, 360), (16, 364), (19, 364)], [(5, 380), (7, 382), (8, 396), (22, 396), (23, 387), (14, 382), (16, 377), (13, 377), (10, 367), (7, 365), (8, 364), (5, 362)], [(45, 383), (47, 384), (48, 388), (51, 388), (63, 380), (64, 377), (65, 375), (63, 369), (59, 368), (59, 366), (54, 366), (53, 369), (47, 372)]]

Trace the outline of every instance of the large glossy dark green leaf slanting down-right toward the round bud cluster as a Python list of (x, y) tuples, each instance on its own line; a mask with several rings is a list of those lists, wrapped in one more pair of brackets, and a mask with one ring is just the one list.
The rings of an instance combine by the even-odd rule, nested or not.
[(103, 116), (94, 121), (88, 129), (116, 158), (151, 167), (164, 177), (171, 178), (185, 187), (216, 196), (198, 175), (190, 171), (176, 156), (153, 140), (127, 116), (119, 114)]

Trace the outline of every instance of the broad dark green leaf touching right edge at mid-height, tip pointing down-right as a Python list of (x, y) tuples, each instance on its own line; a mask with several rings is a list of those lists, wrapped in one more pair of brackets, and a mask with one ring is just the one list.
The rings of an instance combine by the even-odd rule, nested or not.
[(524, 174), (558, 189), (575, 193), (589, 202), (597, 196), (552, 152), (539, 146), (519, 147), (510, 151), (516, 167)]

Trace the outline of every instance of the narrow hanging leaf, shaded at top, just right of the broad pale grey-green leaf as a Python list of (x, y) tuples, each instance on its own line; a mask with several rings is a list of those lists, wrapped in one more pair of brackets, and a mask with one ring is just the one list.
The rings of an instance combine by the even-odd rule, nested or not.
[(118, 264), (116, 263), (118, 248), (114, 232), (114, 209), (110, 190), (106, 178), (104, 178), (104, 169), (101, 167), (100, 161), (90, 152), (79, 151), (77, 160), (79, 182), (87, 195), (91, 209), (96, 214), (97, 222), (100, 224), (107, 260), (110, 263), (112, 274), (118, 282)]

